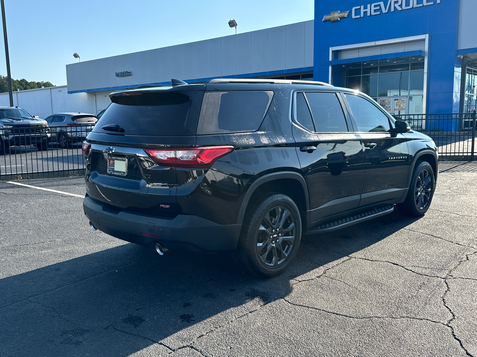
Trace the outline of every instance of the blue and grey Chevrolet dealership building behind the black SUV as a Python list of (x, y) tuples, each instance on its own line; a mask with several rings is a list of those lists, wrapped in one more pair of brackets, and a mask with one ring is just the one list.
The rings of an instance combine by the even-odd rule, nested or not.
[(315, 20), (68, 64), (62, 95), (98, 112), (112, 90), (171, 78), (313, 79), (359, 89), (392, 114), (472, 112), (475, 14), (477, 0), (315, 0)]

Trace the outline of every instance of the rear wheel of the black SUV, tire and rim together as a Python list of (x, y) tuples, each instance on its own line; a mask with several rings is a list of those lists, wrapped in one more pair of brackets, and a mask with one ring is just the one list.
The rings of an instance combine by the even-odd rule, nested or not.
[(272, 278), (290, 266), (300, 241), (301, 217), (295, 202), (281, 193), (261, 193), (247, 209), (234, 260), (258, 277)]

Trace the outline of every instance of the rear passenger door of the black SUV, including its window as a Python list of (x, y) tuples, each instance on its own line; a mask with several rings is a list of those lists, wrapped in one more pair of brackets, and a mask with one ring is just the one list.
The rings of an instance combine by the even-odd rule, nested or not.
[(299, 91), (293, 137), (316, 222), (356, 208), (363, 189), (363, 150), (340, 93)]

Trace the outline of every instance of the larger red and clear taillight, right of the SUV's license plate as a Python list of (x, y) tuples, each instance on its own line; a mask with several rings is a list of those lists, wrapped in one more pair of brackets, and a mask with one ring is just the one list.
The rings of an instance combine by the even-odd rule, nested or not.
[(145, 149), (144, 151), (161, 166), (208, 169), (215, 160), (227, 155), (233, 149), (233, 146), (227, 145), (199, 148)]

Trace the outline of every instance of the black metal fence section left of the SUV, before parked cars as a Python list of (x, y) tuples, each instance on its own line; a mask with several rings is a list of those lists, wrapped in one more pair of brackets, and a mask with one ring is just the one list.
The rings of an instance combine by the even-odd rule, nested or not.
[(82, 143), (93, 125), (0, 128), (0, 180), (84, 175)]

